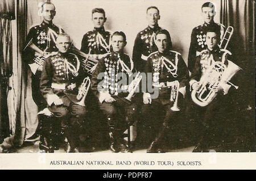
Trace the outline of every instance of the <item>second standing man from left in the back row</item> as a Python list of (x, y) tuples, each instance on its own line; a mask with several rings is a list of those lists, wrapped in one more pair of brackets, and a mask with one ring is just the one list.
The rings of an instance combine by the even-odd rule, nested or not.
[[(104, 23), (106, 19), (104, 9), (96, 8), (92, 10), (94, 29), (82, 37), (81, 43), (81, 51), (88, 54), (89, 60), (95, 60), (97, 62), (110, 51), (109, 40), (111, 33), (105, 31)], [(89, 70), (89, 74), (92, 74), (95, 68), (96, 66)]]

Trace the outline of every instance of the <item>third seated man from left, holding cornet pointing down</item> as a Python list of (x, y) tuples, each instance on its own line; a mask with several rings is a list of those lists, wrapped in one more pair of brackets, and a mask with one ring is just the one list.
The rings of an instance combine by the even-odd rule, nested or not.
[[(188, 69), (181, 54), (171, 50), (170, 45), (171, 39), (166, 30), (156, 33), (158, 51), (148, 56), (144, 71), (147, 76), (151, 73), (151, 85), (156, 88), (155, 91), (159, 91), (157, 98), (151, 97), (149, 91), (143, 93), (142, 124), (151, 126), (154, 129), (152, 132), (156, 134), (153, 135), (154, 141), (147, 150), (149, 153), (163, 151), (167, 130), (172, 132), (172, 127), (179, 123), (180, 110), (183, 110)], [(147, 82), (147, 85), (150, 83)], [(172, 102), (170, 97), (173, 99)], [(138, 136), (141, 136), (139, 134), (141, 133), (138, 131)]]

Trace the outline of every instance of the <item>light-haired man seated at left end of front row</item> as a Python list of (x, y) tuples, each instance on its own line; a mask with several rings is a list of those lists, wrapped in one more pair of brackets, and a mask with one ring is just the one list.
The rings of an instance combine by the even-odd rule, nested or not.
[(69, 52), (70, 37), (61, 33), (56, 40), (59, 49), (43, 65), (40, 91), (46, 99), (48, 110), (61, 122), (69, 142), (67, 152), (79, 152), (79, 131), (85, 120), (86, 106), (77, 99), (78, 88), (85, 77), (80, 61)]

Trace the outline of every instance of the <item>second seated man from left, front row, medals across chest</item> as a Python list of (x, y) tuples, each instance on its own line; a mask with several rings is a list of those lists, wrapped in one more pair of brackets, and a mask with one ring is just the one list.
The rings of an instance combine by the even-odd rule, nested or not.
[[(114, 32), (112, 36), (113, 50), (97, 65), (92, 77), (92, 91), (98, 97), (100, 109), (106, 116), (109, 125), (110, 150), (127, 152), (123, 142), (123, 132), (127, 123), (133, 123), (135, 104), (123, 101), (127, 92), (123, 92), (119, 78), (130, 77), (133, 72), (133, 60), (123, 53), (126, 36), (123, 32)], [(127, 81), (127, 79), (125, 79)]]

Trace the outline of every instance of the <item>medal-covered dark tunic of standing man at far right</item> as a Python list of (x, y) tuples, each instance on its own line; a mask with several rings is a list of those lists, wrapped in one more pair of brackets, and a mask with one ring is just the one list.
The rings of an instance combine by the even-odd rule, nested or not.
[(188, 53), (188, 70), (192, 72), (194, 66), (195, 66), (195, 60), (196, 56), (199, 55), (199, 53), (207, 49), (207, 43), (206, 43), (206, 34), (209, 28), (217, 28), (218, 31), (220, 31), (221, 39), (224, 35), (224, 28), (225, 26), (223, 24), (218, 23), (204, 23), (200, 26), (197, 26), (193, 28), (191, 33), (191, 43), (189, 47), (189, 53)]

